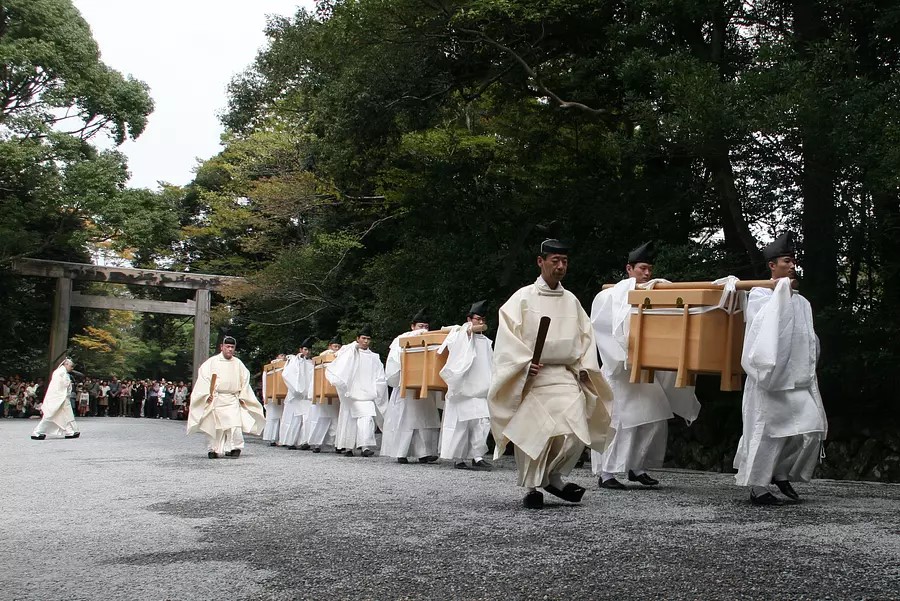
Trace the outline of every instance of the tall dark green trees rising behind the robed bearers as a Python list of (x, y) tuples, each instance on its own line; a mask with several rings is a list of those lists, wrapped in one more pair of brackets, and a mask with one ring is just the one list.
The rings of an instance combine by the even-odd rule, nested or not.
[[(837, 390), (897, 358), (865, 350), (900, 299), (897, 23), (879, 3), (321, 2), (272, 20), (234, 80), (191, 261), (257, 274), (230, 325), (261, 361), (496, 307), (550, 235), (587, 303), (644, 240), (673, 279), (756, 277), (757, 238), (792, 228)], [(335, 233), (355, 243), (316, 250)], [(848, 312), (858, 329), (828, 317)], [(863, 373), (852, 394), (883, 398)]]

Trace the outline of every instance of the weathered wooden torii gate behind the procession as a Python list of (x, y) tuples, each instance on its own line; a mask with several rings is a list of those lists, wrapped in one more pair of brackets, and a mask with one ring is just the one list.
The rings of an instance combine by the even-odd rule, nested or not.
[[(56, 278), (56, 295), (53, 298), (53, 325), (50, 329), (50, 369), (66, 352), (69, 342), (69, 317), (72, 307), (89, 309), (116, 309), (144, 313), (169, 313), (194, 316), (194, 365), (193, 377), (209, 359), (209, 293), (226, 285), (241, 284), (244, 278), (181, 271), (133, 269), (129, 267), (100, 267), (86, 263), (45, 261), (43, 259), (18, 259), (12, 271), (20, 275)], [(196, 290), (194, 300), (187, 302), (157, 301), (139, 298), (92, 296), (72, 290), (73, 280), (158, 286)]]

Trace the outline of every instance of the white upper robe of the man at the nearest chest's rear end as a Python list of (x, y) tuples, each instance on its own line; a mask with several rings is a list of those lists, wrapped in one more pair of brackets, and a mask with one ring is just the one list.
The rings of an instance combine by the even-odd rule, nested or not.
[(613, 392), (612, 406), (608, 407), (612, 427), (634, 428), (670, 419), (673, 414), (691, 423), (700, 413), (693, 386), (675, 388), (675, 374), (663, 371), (655, 372), (653, 382), (632, 384), (630, 381), (628, 335), (632, 306), (628, 293), (635, 288), (634, 278), (622, 280), (598, 293), (591, 305), (591, 324), (603, 364), (601, 370)]

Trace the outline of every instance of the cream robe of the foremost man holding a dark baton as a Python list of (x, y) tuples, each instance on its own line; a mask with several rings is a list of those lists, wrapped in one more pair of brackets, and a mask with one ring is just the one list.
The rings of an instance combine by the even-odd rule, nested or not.
[[(542, 316), (550, 317), (541, 363), (528, 368)], [(587, 374), (586, 381), (579, 373)], [(574, 434), (602, 451), (609, 427), (604, 404), (612, 393), (600, 373), (590, 319), (578, 299), (543, 279), (520, 288), (500, 308), (488, 392), (495, 457), (513, 442), (537, 459), (553, 436)]]

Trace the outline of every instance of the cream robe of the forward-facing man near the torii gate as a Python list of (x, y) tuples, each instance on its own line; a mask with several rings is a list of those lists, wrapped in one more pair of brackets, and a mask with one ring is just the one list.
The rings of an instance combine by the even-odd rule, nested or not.
[[(209, 399), (209, 385), (216, 374), (213, 401)], [(266, 425), (262, 405), (250, 386), (250, 372), (237, 357), (225, 359), (221, 353), (203, 362), (197, 371), (197, 381), (191, 391), (191, 410), (187, 433), (203, 432), (215, 437), (218, 430), (240, 428), (243, 432), (259, 434)]]

